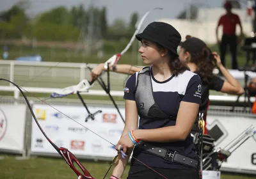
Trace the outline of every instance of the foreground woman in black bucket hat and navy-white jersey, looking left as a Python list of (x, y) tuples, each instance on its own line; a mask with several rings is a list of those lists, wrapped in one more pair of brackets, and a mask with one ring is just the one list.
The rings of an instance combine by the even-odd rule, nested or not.
[[(189, 134), (201, 102), (200, 77), (179, 60), (181, 37), (170, 24), (152, 22), (136, 38), (148, 66), (126, 83), (125, 127), (116, 150), (129, 156), (134, 148), (133, 157), (143, 164), (132, 158), (128, 178), (197, 179), (199, 160)], [(122, 177), (128, 159), (119, 157), (111, 178)]]

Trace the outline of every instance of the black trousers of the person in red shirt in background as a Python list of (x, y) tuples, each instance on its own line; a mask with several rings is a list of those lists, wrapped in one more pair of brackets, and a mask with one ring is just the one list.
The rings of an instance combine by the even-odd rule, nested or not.
[(220, 59), (223, 66), (225, 66), (225, 56), (227, 53), (227, 46), (229, 46), (232, 56), (232, 69), (237, 69), (237, 36), (234, 35), (222, 35), (220, 43)]

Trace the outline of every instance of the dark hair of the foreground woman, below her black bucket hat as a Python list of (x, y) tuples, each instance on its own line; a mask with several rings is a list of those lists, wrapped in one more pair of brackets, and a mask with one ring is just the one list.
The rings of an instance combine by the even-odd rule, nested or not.
[[(159, 43), (156, 43), (156, 45), (157, 45), (157, 48), (159, 49), (159, 51), (166, 49)], [(186, 65), (186, 63), (184, 63), (183, 61), (180, 61), (179, 57), (177, 57), (177, 54), (173, 54), (171, 51), (168, 50), (167, 55), (170, 57), (168, 65), (170, 66), (170, 70), (173, 72), (173, 74), (179, 75), (179, 74), (182, 74), (183, 72), (185, 72), (186, 70), (190, 71), (190, 69)]]

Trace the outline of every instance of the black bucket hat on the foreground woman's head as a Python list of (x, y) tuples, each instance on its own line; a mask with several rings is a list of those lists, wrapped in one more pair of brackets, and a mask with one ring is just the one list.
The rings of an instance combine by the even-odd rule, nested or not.
[(165, 22), (152, 22), (148, 24), (142, 33), (136, 35), (136, 38), (139, 41), (145, 39), (159, 43), (172, 52), (172, 54), (177, 57), (179, 56), (177, 48), (180, 44), (181, 36), (180, 33), (170, 24)]

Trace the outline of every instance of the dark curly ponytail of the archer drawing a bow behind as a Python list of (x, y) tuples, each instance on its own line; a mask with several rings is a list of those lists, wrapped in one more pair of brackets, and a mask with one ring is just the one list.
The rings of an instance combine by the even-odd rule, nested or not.
[[(184, 51), (186, 52), (186, 49)], [(212, 71), (216, 67), (216, 61), (211, 49), (205, 46), (199, 54), (193, 52), (189, 52), (189, 54), (191, 56), (190, 62), (196, 64), (198, 68), (197, 74), (200, 76), (202, 82), (209, 84), (214, 76)]]

